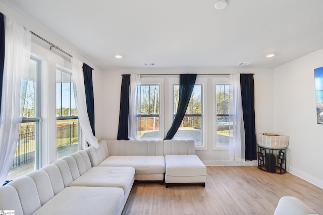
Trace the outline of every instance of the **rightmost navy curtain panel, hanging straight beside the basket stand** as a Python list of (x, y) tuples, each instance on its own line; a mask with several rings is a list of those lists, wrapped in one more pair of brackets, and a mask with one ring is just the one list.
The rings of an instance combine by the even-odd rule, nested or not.
[(240, 74), (242, 112), (246, 136), (246, 160), (257, 159), (256, 129), (254, 113), (253, 74)]

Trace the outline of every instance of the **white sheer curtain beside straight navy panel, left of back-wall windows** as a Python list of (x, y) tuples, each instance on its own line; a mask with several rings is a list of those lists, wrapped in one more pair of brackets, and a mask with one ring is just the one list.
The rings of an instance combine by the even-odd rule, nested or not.
[(140, 75), (130, 75), (130, 96), (129, 96), (129, 124), (128, 124), (128, 138), (136, 140), (140, 138)]

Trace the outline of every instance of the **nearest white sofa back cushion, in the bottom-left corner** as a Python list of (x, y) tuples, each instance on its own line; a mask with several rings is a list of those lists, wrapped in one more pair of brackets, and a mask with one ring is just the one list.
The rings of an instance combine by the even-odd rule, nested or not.
[(8, 184), (0, 186), (0, 208), (4, 210), (15, 210), (16, 215), (24, 215), (15, 187)]

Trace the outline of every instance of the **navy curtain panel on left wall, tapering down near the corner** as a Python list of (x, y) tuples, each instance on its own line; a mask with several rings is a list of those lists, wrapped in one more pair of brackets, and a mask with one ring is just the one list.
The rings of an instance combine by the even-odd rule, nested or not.
[(86, 63), (83, 63), (83, 77), (84, 77), (84, 86), (85, 86), (87, 114), (89, 116), (89, 120), (90, 120), (90, 124), (91, 124), (91, 128), (92, 128), (92, 133), (95, 136), (92, 70), (93, 70), (93, 68), (91, 68)]

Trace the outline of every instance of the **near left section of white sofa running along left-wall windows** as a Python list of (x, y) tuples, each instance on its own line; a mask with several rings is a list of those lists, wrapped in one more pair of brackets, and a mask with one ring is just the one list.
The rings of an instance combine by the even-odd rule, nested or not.
[(91, 167), (86, 152), (64, 157), (0, 187), (0, 208), (23, 214), (121, 214), (132, 167)]

